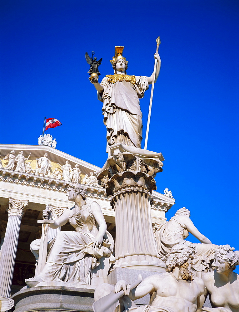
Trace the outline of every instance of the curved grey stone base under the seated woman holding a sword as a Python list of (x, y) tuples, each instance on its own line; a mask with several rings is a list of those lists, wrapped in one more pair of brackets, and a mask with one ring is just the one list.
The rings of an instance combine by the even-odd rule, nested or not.
[[(65, 283), (67, 284), (67, 283)], [(12, 296), (14, 312), (92, 312), (94, 289), (69, 286), (39, 286), (22, 289)]]

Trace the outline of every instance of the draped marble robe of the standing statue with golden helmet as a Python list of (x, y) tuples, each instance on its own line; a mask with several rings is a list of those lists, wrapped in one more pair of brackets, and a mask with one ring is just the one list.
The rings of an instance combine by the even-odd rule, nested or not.
[(125, 79), (114, 83), (109, 80), (107, 77), (102, 79), (104, 91), (102, 94), (98, 92), (98, 99), (103, 102), (107, 152), (109, 146), (117, 143), (141, 148), (143, 126), (139, 99), (143, 98), (144, 92), (148, 89), (147, 78), (135, 76), (135, 84)]

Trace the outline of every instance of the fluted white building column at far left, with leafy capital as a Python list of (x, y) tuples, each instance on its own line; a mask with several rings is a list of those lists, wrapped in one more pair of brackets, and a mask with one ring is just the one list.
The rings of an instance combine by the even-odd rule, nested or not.
[[(20, 224), (27, 204), (28, 200), (9, 197), (7, 228), (0, 258), (0, 298), (10, 298)], [(2, 302), (4, 301), (2, 300)]]

